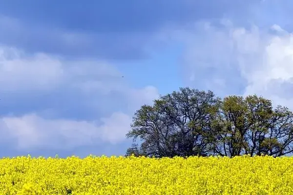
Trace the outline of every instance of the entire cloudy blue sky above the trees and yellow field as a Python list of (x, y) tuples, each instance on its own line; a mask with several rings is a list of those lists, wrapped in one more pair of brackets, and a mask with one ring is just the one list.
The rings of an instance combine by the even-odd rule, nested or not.
[(0, 0), (0, 156), (123, 156), (192, 87), (293, 109), (292, 0)]

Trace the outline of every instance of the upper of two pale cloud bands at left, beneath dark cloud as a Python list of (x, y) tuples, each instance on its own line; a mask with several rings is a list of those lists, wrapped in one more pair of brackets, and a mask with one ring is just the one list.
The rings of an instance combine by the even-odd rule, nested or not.
[(64, 84), (85, 91), (118, 90), (117, 78), (119, 71), (106, 62), (66, 61), (42, 53), (27, 57), (21, 50), (0, 46), (0, 90), (48, 90)]

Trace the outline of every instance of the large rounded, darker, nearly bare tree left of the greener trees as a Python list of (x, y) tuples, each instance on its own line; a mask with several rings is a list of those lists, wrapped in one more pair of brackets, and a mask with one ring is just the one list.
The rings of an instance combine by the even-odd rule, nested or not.
[(138, 155), (156, 157), (208, 156), (213, 141), (210, 122), (219, 107), (220, 98), (211, 91), (180, 88), (161, 96), (153, 106), (143, 105), (126, 134), (133, 141), (140, 138), (140, 148), (127, 150)]

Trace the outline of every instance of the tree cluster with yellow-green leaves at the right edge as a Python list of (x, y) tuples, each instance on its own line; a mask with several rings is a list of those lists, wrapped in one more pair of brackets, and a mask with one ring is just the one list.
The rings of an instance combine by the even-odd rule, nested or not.
[(293, 113), (286, 107), (273, 109), (271, 100), (256, 95), (229, 96), (216, 115), (214, 154), (282, 156), (293, 152)]

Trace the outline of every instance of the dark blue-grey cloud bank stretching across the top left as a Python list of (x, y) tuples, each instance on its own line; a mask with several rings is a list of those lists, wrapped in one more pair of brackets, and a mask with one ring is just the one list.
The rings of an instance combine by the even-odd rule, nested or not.
[(142, 59), (165, 26), (247, 14), (235, 0), (0, 0), (0, 43), (67, 57)]

